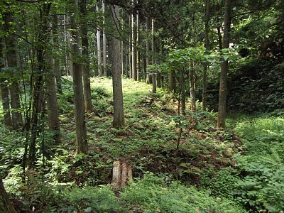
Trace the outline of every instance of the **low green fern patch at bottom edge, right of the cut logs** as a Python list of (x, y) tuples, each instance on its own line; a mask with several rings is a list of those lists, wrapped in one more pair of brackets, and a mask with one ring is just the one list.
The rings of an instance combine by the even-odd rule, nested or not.
[(131, 183), (121, 194), (121, 202), (130, 211), (141, 212), (244, 212), (227, 200), (217, 202), (207, 192), (185, 187), (148, 173), (142, 180)]

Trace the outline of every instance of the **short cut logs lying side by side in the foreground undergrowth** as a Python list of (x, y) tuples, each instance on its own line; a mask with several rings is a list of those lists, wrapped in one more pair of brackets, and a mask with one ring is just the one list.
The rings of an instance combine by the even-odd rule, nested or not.
[(132, 167), (127, 163), (121, 163), (120, 160), (114, 161), (113, 165), (111, 188), (118, 189), (119, 187), (126, 187), (127, 182), (133, 180)]

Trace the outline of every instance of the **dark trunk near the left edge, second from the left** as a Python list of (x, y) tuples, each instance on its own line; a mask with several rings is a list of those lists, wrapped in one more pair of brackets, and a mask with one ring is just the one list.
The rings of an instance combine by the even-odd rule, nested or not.
[[(17, 68), (17, 55), (16, 55), (16, 38), (15, 36), (9, 32), (11, 30), (11, 23), (13, 22), (13, 14), (11, 11), (8, 11), (4, 13), (4, 30), (8, 33), (6, 36), (5, 42), (6, 42), (6, 58), (7, 58), (7, 65), (11, 69)], [(13, 31), (13, 30), (11, 30)], [(18, 85), (18, 76), (16, 72), (13, 72), (11, 70), (11, 86), (10, 94), (11, 94), (11, 109), (12, 109), (12, 123), (13, 123), (13, 129), (19, 129), (21, 128), (23, 124), (23, 119), (21, 115), (21, 102), (20, 102), (20, 89)]]

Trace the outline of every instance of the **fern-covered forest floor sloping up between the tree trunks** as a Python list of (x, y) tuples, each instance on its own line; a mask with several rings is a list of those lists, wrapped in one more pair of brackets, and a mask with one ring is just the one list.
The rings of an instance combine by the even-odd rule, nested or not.
[[(54, 144), (48, 129), (40, 134), (28, 185), (21, 183), (25, 138), (0, 127), (1, 170), (9, 171), (4, 184), (18, 210), (283, 211), (283, 116), (234, 116), (228, 128), (217, 129), (217, 114), (202, 111), (201, 104), (195, 113), (178, 116), (172, 95), (162, 89), (152, 94), (150, 85), (124, 79), (126, 126), (114, 129), (111, 79), (94, 78), (94, 111), (86, 117), (89, 154), (75, 155), (72, 80), (65, 77), (62, 84), (62, 143)], [(114, 160), (133, 168), (134, 180), (125, 189), (111, 190)]]

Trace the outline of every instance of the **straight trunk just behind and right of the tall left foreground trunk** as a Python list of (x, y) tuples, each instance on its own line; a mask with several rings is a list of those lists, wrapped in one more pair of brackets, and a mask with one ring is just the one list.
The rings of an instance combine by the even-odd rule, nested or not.
[(87, 28), (87, 0), (80, 0), (81, 42), (82, 42), (82, 74), (84, 82), (84, 108), (92, 111), (91, 82), (89, 80), (89, 40)]

